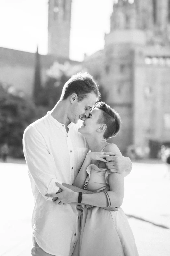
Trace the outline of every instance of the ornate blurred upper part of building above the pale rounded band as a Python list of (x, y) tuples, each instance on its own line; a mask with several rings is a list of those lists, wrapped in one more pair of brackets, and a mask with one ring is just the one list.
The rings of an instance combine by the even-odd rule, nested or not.
[(111, 31), (139, 29), (147, 44), (170, 41), (170, 0), (115, 0)]

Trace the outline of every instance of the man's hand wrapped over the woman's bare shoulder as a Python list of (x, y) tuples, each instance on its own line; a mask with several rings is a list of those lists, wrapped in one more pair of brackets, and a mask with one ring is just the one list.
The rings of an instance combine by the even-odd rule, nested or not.
[(113, 152), (107, 152), (107, 155), (110, 155), (106, 157), (106, 160), (109, 161), (106, 166), (110, 172), (123, 173), (132, 165), (128, 157)]

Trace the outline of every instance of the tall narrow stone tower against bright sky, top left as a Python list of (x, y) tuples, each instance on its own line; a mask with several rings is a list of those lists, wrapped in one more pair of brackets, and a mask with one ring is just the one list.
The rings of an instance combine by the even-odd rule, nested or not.
[(49, 0), (48, 54), (69, 58), (71, 0)]

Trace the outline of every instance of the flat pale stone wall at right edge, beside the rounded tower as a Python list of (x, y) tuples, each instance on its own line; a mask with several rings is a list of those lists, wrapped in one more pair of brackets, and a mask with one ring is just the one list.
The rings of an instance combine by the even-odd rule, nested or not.
[(146, 146), (149, 140), (170, 141), (170, 66), (162, 57), (152, 59), (153, 63), (135, 65), (134, 144), (137, 146)]

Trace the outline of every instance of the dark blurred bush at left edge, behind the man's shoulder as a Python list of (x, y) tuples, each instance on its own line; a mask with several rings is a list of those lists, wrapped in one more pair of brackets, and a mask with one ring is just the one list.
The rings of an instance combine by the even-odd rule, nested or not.
[[(1, 85), (0, 88), (2, 90)], [(35, 106), (22, 97), (4, 91), (0, 97), (0, 146), (7, 143), (11, 156), (23, 157), (23, 132), (35, 120)]]

